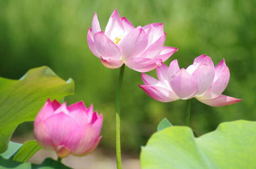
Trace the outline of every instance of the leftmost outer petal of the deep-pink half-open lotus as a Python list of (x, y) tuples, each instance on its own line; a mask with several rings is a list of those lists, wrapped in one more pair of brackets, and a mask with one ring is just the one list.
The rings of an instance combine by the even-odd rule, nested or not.
[(51, 136), (48, 133), (48, 130), (42, 122), (39, 120), (37, 124), (34, 123), (34, 135), (36, 141), (45, 149), (54, 149), (54, 144), (52, 143)]

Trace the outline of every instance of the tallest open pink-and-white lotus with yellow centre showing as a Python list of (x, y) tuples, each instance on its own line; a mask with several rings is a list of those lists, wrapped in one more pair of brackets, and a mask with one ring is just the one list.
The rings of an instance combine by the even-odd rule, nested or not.
[(134, 28), (117, 10), (112, 13), (105, 31), (101, 31), (95, 12), (87, 40), (92, 53), (108, 68), (122, 64), (140, 72), (153, 70), (178, 49), (164, 46), (163, 23)]

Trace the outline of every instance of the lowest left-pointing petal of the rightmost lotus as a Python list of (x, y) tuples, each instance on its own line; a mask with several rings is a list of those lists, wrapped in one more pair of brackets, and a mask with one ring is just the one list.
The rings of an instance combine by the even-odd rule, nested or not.
[(139, 85), (139, 87), (151, 96), (151, 98), (160, 102), (172, 102), (180, 99), (174, 92), (165, 87), (152, 85)]

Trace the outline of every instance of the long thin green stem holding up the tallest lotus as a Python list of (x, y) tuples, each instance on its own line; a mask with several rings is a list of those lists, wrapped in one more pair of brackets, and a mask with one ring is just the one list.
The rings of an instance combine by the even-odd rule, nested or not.
[(123, 73), (124, 73), (124, 67), (123, 64), (120, 68), (119, 73), (119, 80), (117, 83), (117, 90), (116, 90), (116, 163), (117, 168), (122, 168), (121, 163), (121, 141), (120, 141), (120, 93), (121, 93), (121, 86), (123, 81)]

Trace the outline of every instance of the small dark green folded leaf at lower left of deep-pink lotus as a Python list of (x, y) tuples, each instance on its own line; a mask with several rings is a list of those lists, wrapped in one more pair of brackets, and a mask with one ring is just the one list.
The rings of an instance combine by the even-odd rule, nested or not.
[(13, 160), (18, 162), (26, 162), (40, 149), (41, 147), (35, 140), (27, 141), (17, 151), (17, 153), (13, 157)]

